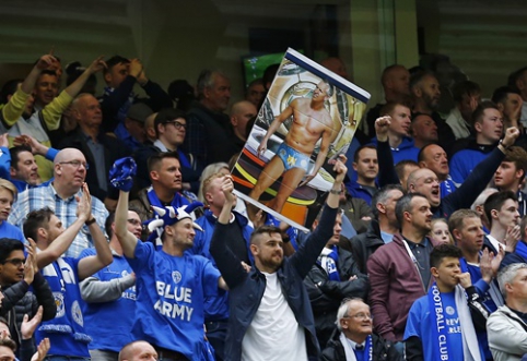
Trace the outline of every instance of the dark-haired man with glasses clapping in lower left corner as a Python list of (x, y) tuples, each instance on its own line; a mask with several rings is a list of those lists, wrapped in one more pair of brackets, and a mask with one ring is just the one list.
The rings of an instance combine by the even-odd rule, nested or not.
[[(24, 244), (10, 238), (0, 239), (0, 286), (3, 300), (0, 316), (8, 320), (10, 334), (20, 348), (21, 345), (33, 345), (33, 333), (23, 332), (22, 322), (32, 320), (42, 306), (42, 320), (55, 317), (57, 306), (48, 282), (37, 272), (36, 250), (27, 246), (27, 258)], [(30, 287), (33, 290), (30, 292)], [(24, 315), (27, 315), (25, 318)], [(35, 318), (36, 320), (36, 318)]]

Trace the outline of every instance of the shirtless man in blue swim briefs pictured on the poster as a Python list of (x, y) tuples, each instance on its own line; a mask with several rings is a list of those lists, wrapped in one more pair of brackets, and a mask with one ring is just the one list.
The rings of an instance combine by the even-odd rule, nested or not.
[[(333, 121), (324, 107), (324, 101), (331, 97), (332, 94), (333, 87), (329, 85), (327, 81), (321, 81), (317, 84), (311, 99), (294, 99), (289, 107), (280, 113), (280, 116), (274, 118), (266, 136), (264, 136), (264, 140), (258, 146), (258, 156), (266, 152), (268, 140), (291, 116), (293, 116), (293, 123), (285, 140), (278, 148), (277, 154), (265, 166), (258, 177), (255, 188), (250, 191), (249, 196), (253, 200), (258, 201), (261, 193), (271, 186), (271, 184), (283, 173), (283, 180), (280, 184), (278, 194), (268, 204), (271, 209), (280, 213), (285, 201), (294, 190), (297, 186), (307, 184), (313, 178), (315, 178), (328, 154), (331, 133), (333, 131)], [(321, 139), (321, 144), (315, 161), (315, 167), (311, 175), (302, 180), (306, 175), (311, 155), (319, 139)]]

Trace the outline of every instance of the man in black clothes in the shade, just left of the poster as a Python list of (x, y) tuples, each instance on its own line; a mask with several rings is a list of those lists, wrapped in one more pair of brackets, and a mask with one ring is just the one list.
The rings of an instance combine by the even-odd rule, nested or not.
[(198, 76), (198, 100), (188, 111), (185, 149), (207, 167), (229, 161), (230, 120), (224, 113), (231, 99), (231, 82), (221, 71), (203, 70)]

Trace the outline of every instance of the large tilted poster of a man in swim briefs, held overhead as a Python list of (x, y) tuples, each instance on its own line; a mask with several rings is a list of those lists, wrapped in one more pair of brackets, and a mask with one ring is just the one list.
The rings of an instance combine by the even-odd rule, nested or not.
[(288, 49), (232, 170), (249, 217), (262, 209), (307, 230), (330, 191), (370, 94)]

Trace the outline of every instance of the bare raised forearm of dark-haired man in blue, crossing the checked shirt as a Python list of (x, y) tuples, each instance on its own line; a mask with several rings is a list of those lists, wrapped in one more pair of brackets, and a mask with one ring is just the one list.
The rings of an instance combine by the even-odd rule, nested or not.
[[(77, 206), (77, 219), (68, 227), (59, 237), (48, 245), (46, 250), (38, 252), (37, 264), (38, 268), (44, 268), (50, 263), (57, 261), (68, 249), (80, 232), (84, 222), (89, 219), (92, 212), (92, 197), (87, 191), (87, 185), (83, 184), (83, 193)], [(33, 242), (31, 238), (27, 239)]]

